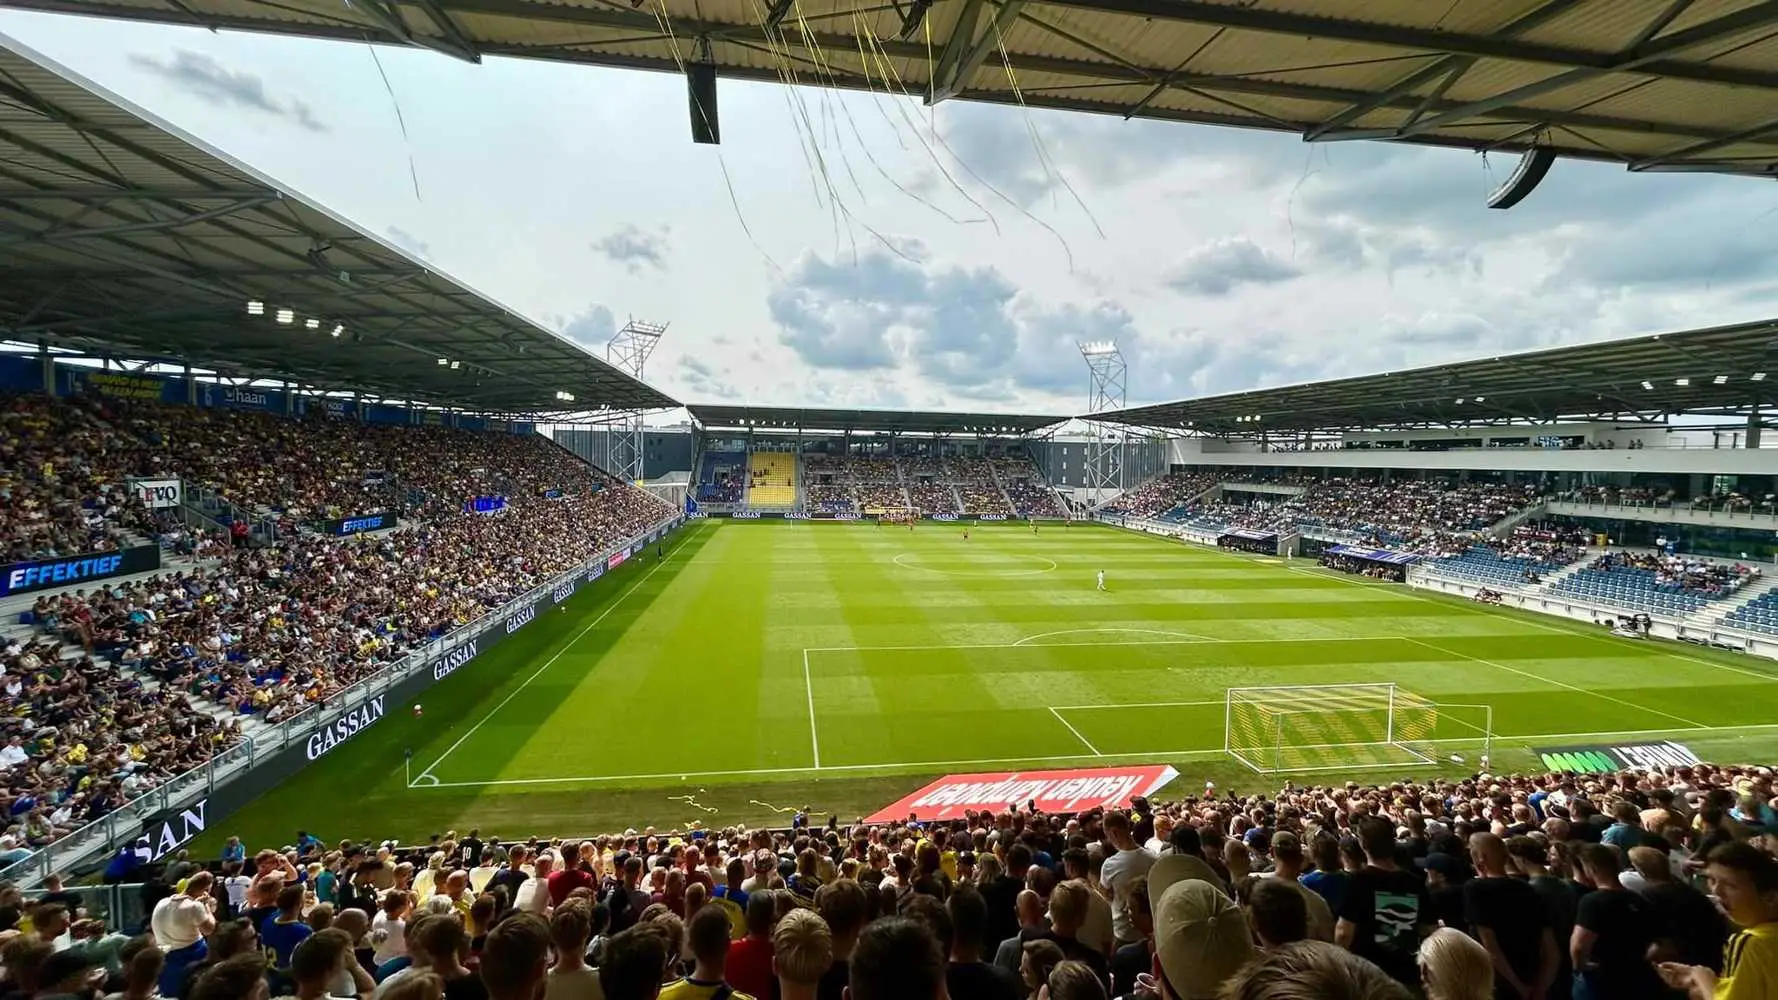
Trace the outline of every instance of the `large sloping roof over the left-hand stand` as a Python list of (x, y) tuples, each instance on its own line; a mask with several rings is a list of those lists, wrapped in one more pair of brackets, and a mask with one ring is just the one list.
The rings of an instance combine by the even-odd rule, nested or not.
[(485, 413), (677, 406), (5, 36), (0, 336)]

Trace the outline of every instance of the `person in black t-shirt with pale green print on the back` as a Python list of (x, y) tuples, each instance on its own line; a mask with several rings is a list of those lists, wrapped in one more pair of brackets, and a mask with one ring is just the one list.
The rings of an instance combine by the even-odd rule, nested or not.
[(1421, 970), (1415, 952), (1431, 931), (1431, 899), (1426, 886), (1396, 865), (1396, 829), (1380, 819), (1358, 826), (1366, 867), (1353, 872), (1341, 904), (1334, 940), (1371, 959), (1396, 982), (1415, 988)]

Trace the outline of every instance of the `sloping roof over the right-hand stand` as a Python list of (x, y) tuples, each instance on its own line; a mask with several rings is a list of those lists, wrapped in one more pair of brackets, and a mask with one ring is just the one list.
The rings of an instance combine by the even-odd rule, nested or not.
[(1774, 400), (1778, 320), (1766, 320), (1138, 406), (1095, 418), (1253, 436), (1264, 431), (1744, 415), (1755, 404)]

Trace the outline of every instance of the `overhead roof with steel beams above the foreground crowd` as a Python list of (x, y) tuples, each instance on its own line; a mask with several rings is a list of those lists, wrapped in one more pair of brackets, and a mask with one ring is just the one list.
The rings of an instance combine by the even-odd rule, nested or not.
[(1771, 0), (9, 0), (204, 28), (1773, 176)]

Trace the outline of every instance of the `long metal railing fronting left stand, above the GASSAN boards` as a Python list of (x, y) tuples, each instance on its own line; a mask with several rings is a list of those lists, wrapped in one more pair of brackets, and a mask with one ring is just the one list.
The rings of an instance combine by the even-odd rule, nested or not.
[(581, 573), (587, 573), (594, 564), (605, 564), (617, 550), (628, 548), (640, 537), (647, 537), (649, 532), (658, 532), (672, 525), (677, 520), (677, 512), (665, 516), (647, 528), (637, 532), (635, 536), (605, 548), (592, 559), (587, 559), (574, 569), (553, 577), (549, 582), (532, 587), (525, 594), (489, 610), (487, 614), (459, 626), (457, 630), (441, 635), (427, 642), (425, 646), (414, 649), (407, 657), (389, 664), (388, 667), (357, 680), (338, 692), (316, 701), (313, 706), (284, 719), (265, 726), (252, 737), (219, 751), (215, 756), (204, 763), (178, 774), (155, 788), (149, 788), (132, 799), (128, 804), (68, 833), (66, 836), (39, 847), (30, 858), (14, 861), (12, 865), (0, 868), (0, 881), (18, 883), (21, 886), (34, 886), (43, 881), (44, 875), (57, 870), (69, 870), (75, 865), (92, 858), (94, 854), (110, 851), (121, 843), (135, 840), (140, 836), (144, 826), (149, 819), (171, 813), (172, 810), (190, 806), (199, 799), (208, 797), (212, 792), (228, 785), (229, 781), (240, 778), (242, 774), (252, 770), (252, 767), (277, 753), (283, 753), (290, 746), (295, 746), (309, 737), (322, 721), (329, 717), (331, 712), (343, 705), (356, 705), (359, 699), (389, 690), (402, 680), (407, 680), (416, 671), (430, 669), (432, 664), (443, 657), (448, 649), (455, 649), (459, 642), (468, 637), (478, 635), (482, 628), (489, 623), (498, 621), (509, 609), (525, 607), (530, 601), (539, 601), (544, 594), (549, 594), (555, 587), (562, 585)]

